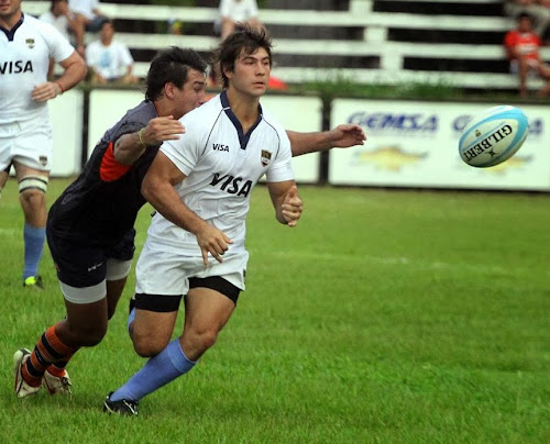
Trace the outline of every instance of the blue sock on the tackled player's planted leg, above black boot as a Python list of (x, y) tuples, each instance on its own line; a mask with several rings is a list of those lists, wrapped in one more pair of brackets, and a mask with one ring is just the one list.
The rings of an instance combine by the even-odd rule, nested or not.
[(189, 371), (195, 362), (189, 360), (179, 346), (179, 340), (172, 341), (158, 355), (147, 360), (141, 370), (111, 395), (111, 401), (128, 399), (138, 401), (169, 381)]

